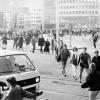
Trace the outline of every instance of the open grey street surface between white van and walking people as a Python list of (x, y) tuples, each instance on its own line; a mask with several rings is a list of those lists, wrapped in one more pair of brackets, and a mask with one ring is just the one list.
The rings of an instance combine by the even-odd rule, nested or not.
[[(76, 37), (77, 38), (77, 37)], [(68, 39), (65, 39), (65, 41)], [(80, 44), (83, 46), (83, 41), (81, 39), (76, 39), (74, 45)], [(81, 42), (78, 42), (81, 41)], [(90, 41), (90, 40), (87, 40)], [(73, 42), (73, 40), (72, 40)], [(84, 44), (86, 41), (84, 41)], [(91, 42), (87, 42), (86, 46), (92, 45)], [(98, 43), (99, 45), (99, 43)], [(12, 50), (12, 42), (8, 42), (8, 49)], [(84, 47), (84, 46), (83, 46)], [(98, 47), (99, 48), (99, 47)], [(89, 46), (88, 50), (94, 50), (92, 46)], [(82, 52), (80, 50), (79, 52)], [(91, 51), (90, 54), (93, 56), (93, 52)], [(61, 75), (61, 63), (56, 62), (55, 54), (41, 54), (39, 50), (35, 53), (31, 53), (26, 51), (29, 57), (32, 59), (33, 64), (37, 67), (41, 74), (41, 83), (40, 88), (44, 91), (44, 94), (39, 97), (38, 99), (43, 100), (87, 100), (88, 99), (88, 89), (82, 89), (81, 83), (79, 83), (79, 66), (77, 67), (77, 77), (78, 80), (75, 81), (72, 77), (72, 67), (71, 64), (67, 63), (66, 66), (66, 73), (67, 77), (64, 78)], [(85, 80), (86, 73), (83, 73), (83, 82)], [(98, 96), (100, 98), (100, 95)]]

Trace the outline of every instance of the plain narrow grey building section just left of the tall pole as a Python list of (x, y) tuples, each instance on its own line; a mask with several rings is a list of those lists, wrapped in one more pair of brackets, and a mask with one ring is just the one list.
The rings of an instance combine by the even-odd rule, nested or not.
[(55, 28), (56, 24), (56, 1), (44, 0), (44, 28)]

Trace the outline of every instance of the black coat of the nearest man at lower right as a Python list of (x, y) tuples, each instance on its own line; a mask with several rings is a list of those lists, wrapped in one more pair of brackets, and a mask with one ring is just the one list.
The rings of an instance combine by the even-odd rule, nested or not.
[(100, 72), (92, 71), (86, 78), (86, 82), (81, 85), (82, 88), (89, 88), (90, 91), (100, 90)]

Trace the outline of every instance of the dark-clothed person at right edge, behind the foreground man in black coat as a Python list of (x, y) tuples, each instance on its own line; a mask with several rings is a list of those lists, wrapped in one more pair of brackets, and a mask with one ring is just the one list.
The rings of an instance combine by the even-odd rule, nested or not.
[(92, 63), (95, 63), (96, 65), (96, 70), (100, 72), (100, 56), (99, 56), (99, 51), (96, 50), (94, 52), (95, 56), (92, 58)]

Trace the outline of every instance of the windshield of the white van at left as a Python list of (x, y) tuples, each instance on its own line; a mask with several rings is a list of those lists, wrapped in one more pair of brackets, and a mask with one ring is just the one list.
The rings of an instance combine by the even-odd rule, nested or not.
[(26, 55), (10, 55), (0, 57), (0, 74), (21, 73), (35, 70)]

